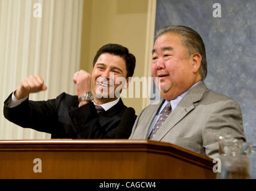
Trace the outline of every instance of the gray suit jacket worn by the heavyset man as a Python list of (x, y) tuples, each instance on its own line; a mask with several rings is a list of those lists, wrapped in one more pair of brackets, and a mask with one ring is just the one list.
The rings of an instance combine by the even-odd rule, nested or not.
[[(139, 114), (130, 139), (147, 139), (148, 130), (164, 100)], [(197, 153), (218, 157), (217, 136), (231, 134), (245, 141), (239, 104), (209, 90), (203, 82), (182, 98), (153, 140), (176, 144)]]

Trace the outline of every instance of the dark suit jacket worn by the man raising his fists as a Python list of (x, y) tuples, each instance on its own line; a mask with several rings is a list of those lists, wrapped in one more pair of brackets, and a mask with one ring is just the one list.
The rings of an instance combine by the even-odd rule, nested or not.
[[(4, 102), (5, 118), (23, 128), (50, 133), (51, 138), (128, 138), (132, 131), (119, 125), (127, 108), (121, 99), (101, 115), (93, 103), (78, 107), (77, 96), (66, 93), (47, 101), (27, 99), (12, 108), (7, 107), (10, 99), (11, 95)], [(135, 119), (136, 115), (130, 120)]]

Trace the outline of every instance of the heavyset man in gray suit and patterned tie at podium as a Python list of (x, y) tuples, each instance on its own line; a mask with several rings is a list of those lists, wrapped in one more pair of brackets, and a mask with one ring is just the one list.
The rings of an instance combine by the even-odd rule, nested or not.
[(239, 104), (209, 90), (205, 45), (199, 33), (185, 26), (157, 32), (151, 72), (163, 100), (139, 114), (130, 139), (164, 141), (218, 157), (218, 135), (245, 141)]

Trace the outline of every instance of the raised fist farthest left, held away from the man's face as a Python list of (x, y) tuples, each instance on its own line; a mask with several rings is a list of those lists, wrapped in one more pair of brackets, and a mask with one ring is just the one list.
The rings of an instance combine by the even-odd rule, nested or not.
[(23, 97), (29, 96), (30, 93), (36, 93), (42, 90), (47, 90), (44, 80), (38, 75), (33, 75), (23, 79), (22, 84), (15, 91), (14, 96), (17, 100), (20, 100)]

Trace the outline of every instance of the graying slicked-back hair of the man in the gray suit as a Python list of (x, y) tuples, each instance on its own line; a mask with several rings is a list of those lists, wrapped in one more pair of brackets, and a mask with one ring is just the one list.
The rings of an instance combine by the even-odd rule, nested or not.
[(205, 44), (203, 44), (203, 39), (195, 30), (187, 26), (170, 25), (163, 27), (157, 31), (157, 38), (164, 33), (178, 33), (182, 38), (182, 44), (188, 48), (189, 56), (194, 53), (199, 53), (202, 56), (202, 61), (200, 65), (200, 73), (202, 78), (205, 79), (207, 75), (207, 61), (205, 53)]

